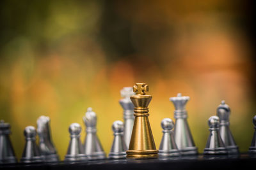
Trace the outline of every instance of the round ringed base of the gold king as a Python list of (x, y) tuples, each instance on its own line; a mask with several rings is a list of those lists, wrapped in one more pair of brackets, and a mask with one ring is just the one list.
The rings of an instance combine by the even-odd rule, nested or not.
[(158, 158), (158, 150), (127, 150), (127, 159), (153, 159)]

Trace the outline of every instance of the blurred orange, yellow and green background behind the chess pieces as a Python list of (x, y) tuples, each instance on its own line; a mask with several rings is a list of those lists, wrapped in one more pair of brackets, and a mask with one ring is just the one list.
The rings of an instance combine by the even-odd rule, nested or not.
[(156, 147), (161, 120), (173, 118), (169, 97), (190, 96), (186, 108), (202, 153), (207, 120), (225, 100), (230, 129), (247, 152), (256, 113), (255, 18), (251, 1), (0, 1), (0, 119), (12, 125), (18, 158), (24, 127), (40, 115), (63, 159), (68, 126), (88, 107), (98, 116), (106, 153), (111, 125), (123, 120), (120, 90), (146, 82), (153, 99)]

